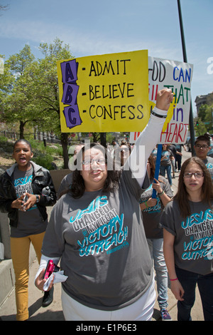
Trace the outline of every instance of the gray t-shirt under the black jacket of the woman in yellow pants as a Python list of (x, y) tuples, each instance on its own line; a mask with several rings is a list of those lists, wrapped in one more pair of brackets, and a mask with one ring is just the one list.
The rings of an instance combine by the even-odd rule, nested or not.
[[(13, 172), (13, 185), (16, 190), (16, 196), (21, 197), (23, 193), (33, 194), (32, 188), (33, 167), (27, 171), (18, 170), (16, 167)], [(32, 234), (45, 232), (47, 221), (43, 222), (38, 207), (34, 205), (26, 212), (18, 211), (18, 226), (11, 226), (11, 237), (26, 237)]]

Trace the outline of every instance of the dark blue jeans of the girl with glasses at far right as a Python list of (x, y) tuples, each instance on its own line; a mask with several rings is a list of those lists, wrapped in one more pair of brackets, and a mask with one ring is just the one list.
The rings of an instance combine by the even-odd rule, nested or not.
[(184, 289), (184, 301), (178, 301), (178, 321), (190, 321), (195, 303), (195, 287), (198, 286), (205, 321), (213, 321), (213, 272), (203, 276), (176, 268), (176, 274)]

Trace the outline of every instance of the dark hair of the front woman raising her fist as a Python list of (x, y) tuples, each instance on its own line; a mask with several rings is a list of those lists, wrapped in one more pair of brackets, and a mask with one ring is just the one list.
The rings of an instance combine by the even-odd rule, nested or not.
[[(120, 177), (121, 170), (116, 169), (116, 165), (115, 165), (113, 159), (111, 158), (111, 155), (107, 155), (107, 149), (106, 148), (104, 148), (102, 145), (99, 145), (97, 143), (90, 143), (89, 144), (89, 148), (93, 148), (94, 146), (97, 149), (101, 150), (102, 153), (104, 153), (105, 160), (107, 162), (107, 167), (109, 167), (109, 169), (107, 169), (107, 179), (105, 181), (105, 184), (104, 184), (104, 187), (103, 187), (102, 191), (103, 192), (112, 192), (119, 185), (119, 177)], [(85, 149), (87, 150), (87, 148), (88, 147), (84, 146), (80, 150), (80, 152), (77, 154), (77, 158), (74, 162), (74, 165), (77, 165), (78, 158), (82, 157), (80, 155), (83, 155)], [(84, 180), (82, 178), (82, 175), (81, 175), (80, 171), (81, 171), (80, 166), (77, 166), (77, 169), (75, 171), (73, 171), (73, 175), (72, 175), (72, 185), (70, 187), (70, 192), (72, 194), (72, 197), (75, 197), (75, 198), (82, 197), (82, 195), (84, 194), (84, 190), (85, 190)]]

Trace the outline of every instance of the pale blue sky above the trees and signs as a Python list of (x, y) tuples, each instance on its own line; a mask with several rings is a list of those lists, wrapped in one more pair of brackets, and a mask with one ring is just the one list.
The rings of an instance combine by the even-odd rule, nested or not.
[[(183, 61), (178, 0), (0, 0), (0, 54), (26, 45), (42, 58), (40, 43), (56, 37), (74, 57), (148, 49), (148, 56)], [(213, 91), (213, 1), (180, 0), (187, 63), (196, 96)]]

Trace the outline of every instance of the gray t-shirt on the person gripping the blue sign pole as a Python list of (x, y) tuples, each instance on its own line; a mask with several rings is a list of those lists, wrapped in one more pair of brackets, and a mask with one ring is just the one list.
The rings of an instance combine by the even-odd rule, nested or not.
[[(162, 181), (161, 181), (162, 180)], [(173, 191), (171, 190), (168, 180), (164, 177), (159, 177), (160, 187), (165, 192), (168, 197), (173, 197)], [(141, 195), (140, 203), (146, 202), (153, 195), (153, 180), (151, 180), (151, 185), (146, 191)], [(148, 207), (142, 210), (143, 215), (143, 225), (146, 233), (146, 238), (148, 239), (160, 239), (163, 238), (163, 228), (160, 225), (160, 215), (163, 211), (163, 203), (160, 200), (160, 197), (156, 197), (157, 203), (153, 207)]]

